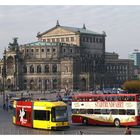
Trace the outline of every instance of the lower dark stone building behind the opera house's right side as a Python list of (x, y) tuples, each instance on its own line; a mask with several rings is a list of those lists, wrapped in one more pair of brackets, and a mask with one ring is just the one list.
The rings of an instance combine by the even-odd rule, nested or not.
[(134, 78), (134, 61), (119, 59), (116, 53), (105, 53), (106, 72), (104, 87), (121, 87), (121, 85)]

